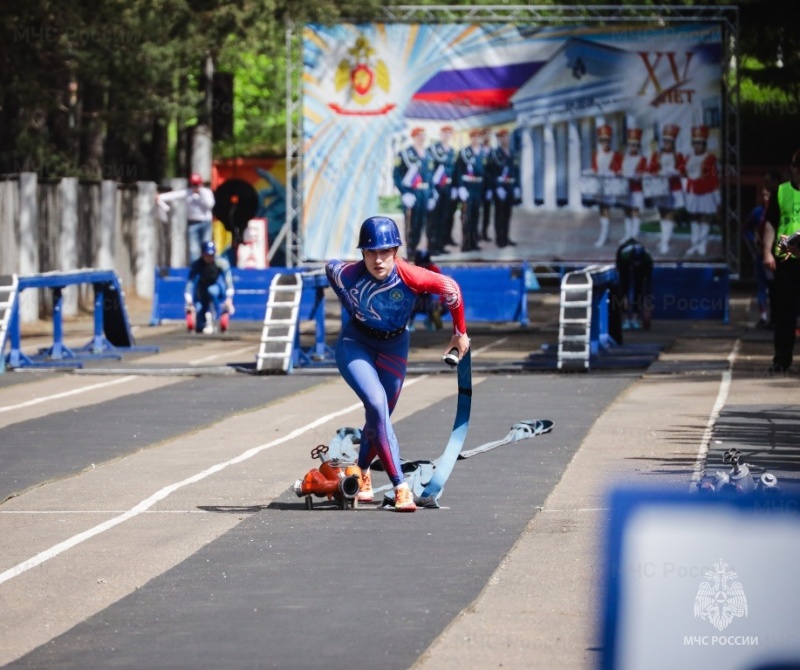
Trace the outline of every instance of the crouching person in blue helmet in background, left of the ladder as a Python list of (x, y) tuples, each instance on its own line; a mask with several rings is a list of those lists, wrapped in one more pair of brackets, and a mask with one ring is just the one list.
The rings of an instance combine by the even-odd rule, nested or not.
[(233, 315), (233, 274), (223, 256), (217, 256), (213, 242), (203, 242), (201, 254), (189, 268), (183, 299), (186, 302), (186, 327), (190, 331), (210, 335), (214, 318), (221, 332), (227, 332)]

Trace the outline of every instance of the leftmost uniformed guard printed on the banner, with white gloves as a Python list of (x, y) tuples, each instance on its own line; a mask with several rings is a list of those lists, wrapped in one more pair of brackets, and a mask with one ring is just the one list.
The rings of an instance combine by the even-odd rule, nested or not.
[(405, 216), (408, 254), (414, 257), (428, 212), (435, 206), (431, 189), (433, 160), (425, 150), (425, 129), (411, 131), (411, 144), (397, 154), (394, 163), (394, 185), (400, 191)]

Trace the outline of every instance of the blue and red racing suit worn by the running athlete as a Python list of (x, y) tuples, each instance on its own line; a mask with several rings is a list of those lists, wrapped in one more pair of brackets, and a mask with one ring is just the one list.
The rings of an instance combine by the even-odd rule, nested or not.
[(331, 260), (325, 271), (350, 317), (336, 345), (339, 372), (364, 403), (365, 424), (358, 465), (377, 456), (392, 482), (404, 481), (400, 447), (390, 420), (406, 376), (411, 311), (420, 293), (441, 295), (456, 335), (467, 332), (461, 289), (450, 277), (396, 259), (391, 274), (375, 279), (364, 261)]

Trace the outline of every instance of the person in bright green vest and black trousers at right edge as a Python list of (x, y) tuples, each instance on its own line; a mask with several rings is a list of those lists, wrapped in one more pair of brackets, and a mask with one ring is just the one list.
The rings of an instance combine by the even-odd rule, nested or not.
[(800, 149), (790, 163), (790, 178), (767, 204), (763, 230), (764, 267), (774, 273), (773, 356), (770, 372), (786, 373), (794, 359), (800, 313), (800, 248), (790, 238), (800, 232)]

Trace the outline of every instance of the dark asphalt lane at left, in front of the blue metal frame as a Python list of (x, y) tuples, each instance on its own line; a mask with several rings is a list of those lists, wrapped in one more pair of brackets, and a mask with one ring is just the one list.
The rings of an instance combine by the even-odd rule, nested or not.
[(249, 375), (193, 377), (0, 428), (0, 501), (318, 383), (300, 376), (280, 382)]

